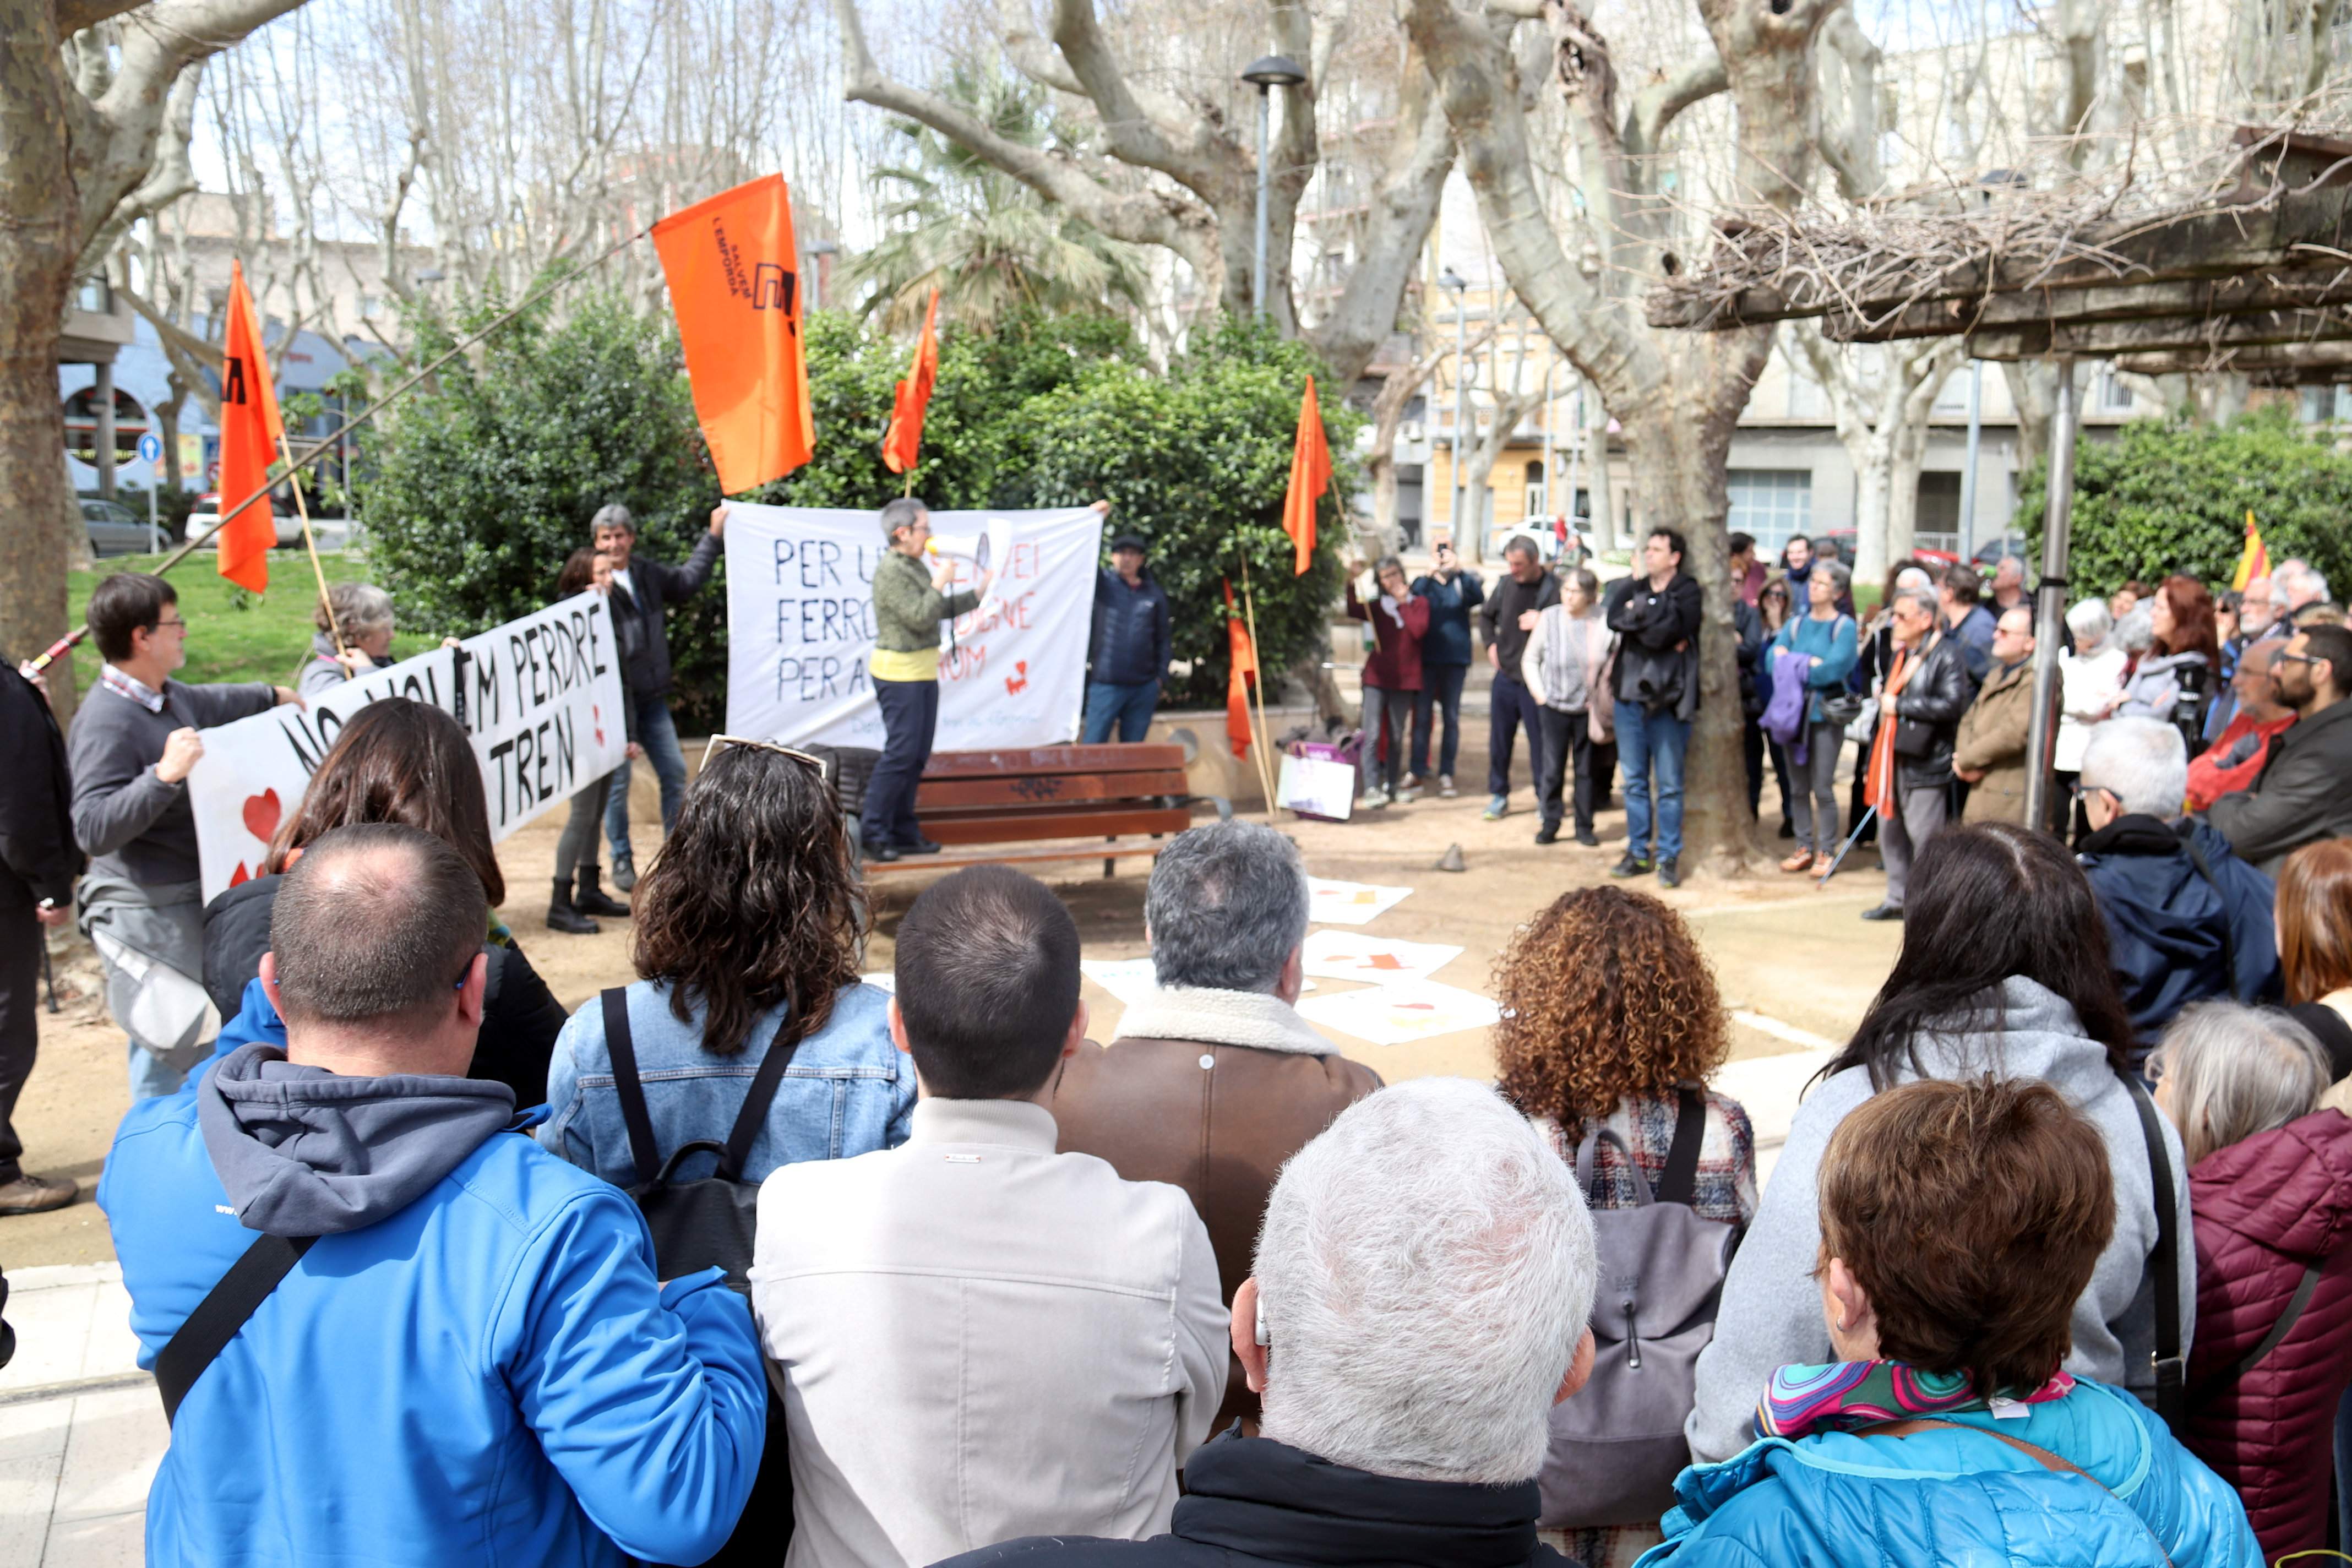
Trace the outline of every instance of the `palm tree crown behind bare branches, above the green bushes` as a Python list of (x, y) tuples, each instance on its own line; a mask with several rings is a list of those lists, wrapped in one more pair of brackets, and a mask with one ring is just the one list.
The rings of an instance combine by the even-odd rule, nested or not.
[[(941, 94), (1000, 136), (1040, 148), (1070, 141), (1044, 89), (1030, 82), (957, 63)], [(1141, 247), (1058, 212), (929, 127), (896, 120), (891, 129), (908, 158), (875, 172), (891, 193), (882, 207), (887, 233), (847, 268), (849, 287), (866, 292), (861, 315), (880, 313), (887, 331), (913, 331), (934, 287), (943, 315), (981, 331), (1023, 306), (1054, 315), (1143, 308)]]

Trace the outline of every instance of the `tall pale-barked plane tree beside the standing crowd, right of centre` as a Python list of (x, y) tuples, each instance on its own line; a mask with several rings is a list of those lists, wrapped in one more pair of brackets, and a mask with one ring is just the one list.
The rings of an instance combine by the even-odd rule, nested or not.
[[(1696, 0), (1712, 56), (1621, 92), (1625, 71), (1569, 0), (1409, 0), (1406, 31), (1437, 80), (1463, 172), (1512, 292), (1602, 393), (1632, 470), (1635, 534), (1677, 527), (1708, 595), (1700, 703), (1684, 788), (1686, 860), (1736, 875), (1759, 853), (1740, 762), (1738, 665), (1726, 592), (1731, 435), (1771, 353), (1769, 329), (1670, 331), (1642, 315), (1651, 280), (1682, 266), (1679, 172), (1665, 134), (1729, 96), (1731, 202), (1792, 209), (1816, 167), (1813, 35), (1839, 0)], [(1534, 172), (1536, 82), (1566, 99), (1573, 202), (1548, 207)]]

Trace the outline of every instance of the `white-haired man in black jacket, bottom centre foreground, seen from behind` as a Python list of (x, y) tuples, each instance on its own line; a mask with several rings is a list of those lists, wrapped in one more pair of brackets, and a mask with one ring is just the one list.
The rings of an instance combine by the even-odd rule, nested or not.
[(1597, 1274), (1576, 1178), (1526, 1117), (1468, 1079), (1383, 1088), (1282, 1168), (1232, 1298), (1261, 1434), (1192, 1453), (1167, 1535), (950, 1563), (1564, 1568), (1536, 1476), (1552, 1406), (1592, 1375)]

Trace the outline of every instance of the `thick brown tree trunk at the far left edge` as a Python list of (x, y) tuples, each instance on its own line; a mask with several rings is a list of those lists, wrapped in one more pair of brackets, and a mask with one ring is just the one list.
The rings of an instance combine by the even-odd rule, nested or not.
[[(56, 348), (73, 280), (188, 188), (158, 160), (174, 85), (301, 0), (0, 0), (0, 649), (66, 630), (66, 418)], [(66, 670), (52, 682), (73, 701)]]

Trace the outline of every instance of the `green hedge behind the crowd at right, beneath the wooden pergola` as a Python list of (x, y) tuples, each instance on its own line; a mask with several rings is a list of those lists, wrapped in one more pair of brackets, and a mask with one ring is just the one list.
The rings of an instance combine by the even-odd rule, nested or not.
[[(2049, 463), (2020, 491), (2018, 531), (2042, 559)], [(2249, 508), (2272, 562), (2300, 555), (2328, 583), (2352, 583), (2352, 454), (2296, 425), (2288, 407), (2230, 425), (2145, 418), (2112, 442), (2086, 440), (2074, 449), (2070, 597), (2173, 571), (2227, 588)]]

